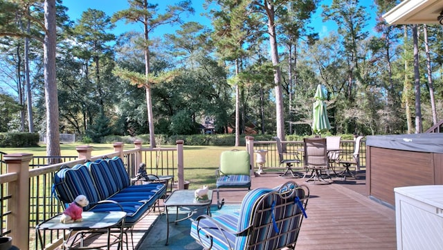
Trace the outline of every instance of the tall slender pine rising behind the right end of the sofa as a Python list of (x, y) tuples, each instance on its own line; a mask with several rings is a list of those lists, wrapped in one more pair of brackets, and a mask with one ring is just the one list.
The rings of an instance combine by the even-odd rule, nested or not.
[[(144, 87), (146, 91), (146, 106), (147, 106), (147, 120), (150, 128), (150, 148), (155, 148), (155, 134), (154, 134), (154, 116), (152, 114), (152, 98), (151, 87), (152, 81), (150, 81), (150, 32), (159, 26), (165, 24), (181, 23), (180, 15), (183, 12), (194, 12), (191, 8), (191, 1), (181, 1), (175, 6), (168, 6), (165, 14), (157, 13), (156, 4), (147, 3), (147, 0), (128, 0), (129, 9), (120, 10), (116, 12), (113, 21), (125, 19), (127, 23), (140, 22), (143, 24), (143, 41), (140, 42), (141, 48), (143, 48), (145, 54), (145, 80), (144, 82), (137, 82), (138, 87)], [(125, 74), (122, 74), (125, 75)]]

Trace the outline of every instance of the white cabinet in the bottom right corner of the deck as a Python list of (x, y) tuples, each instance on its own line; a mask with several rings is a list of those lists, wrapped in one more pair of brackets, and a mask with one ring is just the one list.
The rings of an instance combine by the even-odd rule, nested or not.
[(443, 185), (394, 188), (397, 249), (443, 249)]

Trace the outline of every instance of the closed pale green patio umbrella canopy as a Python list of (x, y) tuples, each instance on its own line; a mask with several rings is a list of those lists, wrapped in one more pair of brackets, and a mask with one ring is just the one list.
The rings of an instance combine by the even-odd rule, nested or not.
[(331, 125), (329, 124), (329, 118), (327, 118), (326, 103), (325, 103), (325, 93), (321, 88), (321, 84), (318, 84), (316, 94), (314, 96), (316, 101), (312, 107), (312, 114), (314, 114), (314, 119), (312, 122), (312, 131), (315, 134), (320, 134), (324, 130), (330, 130)]

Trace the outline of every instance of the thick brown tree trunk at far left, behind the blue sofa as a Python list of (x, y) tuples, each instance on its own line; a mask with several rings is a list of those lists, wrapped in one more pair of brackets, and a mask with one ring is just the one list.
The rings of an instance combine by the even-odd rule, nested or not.
[[(44, 1), (44, 90), (46, 101), (46, 154), (60, 156), (60, 132), (58, 117), (57, 82), (55, 80), (55, 51), (57, 30), (55, 0)], [(50, 164), (57, 161), (50, 161)]]

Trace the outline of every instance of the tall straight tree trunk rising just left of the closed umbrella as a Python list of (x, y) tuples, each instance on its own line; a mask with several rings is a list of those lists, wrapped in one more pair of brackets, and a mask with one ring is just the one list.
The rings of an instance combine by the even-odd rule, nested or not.
[(266, 3), (266, 10), (268, 15), (268, 33), (269, 33), (269, 44), (271, 45), (271, 58), (272, 64), (274, 66), (274, 84), (275, 84), (275, 117), (276, 117), (276, 127), (277, 136), (280, 141), (284, 141), (284, 109), (283, 109), (283, 93), (281, 85), (281, 72), (279, 60), (278, 60), (278, 46), (277, 46), (277, 35), (275, 34), (275, 23), (274, 16), (275, 12), (273, 6), (270, 3)]

